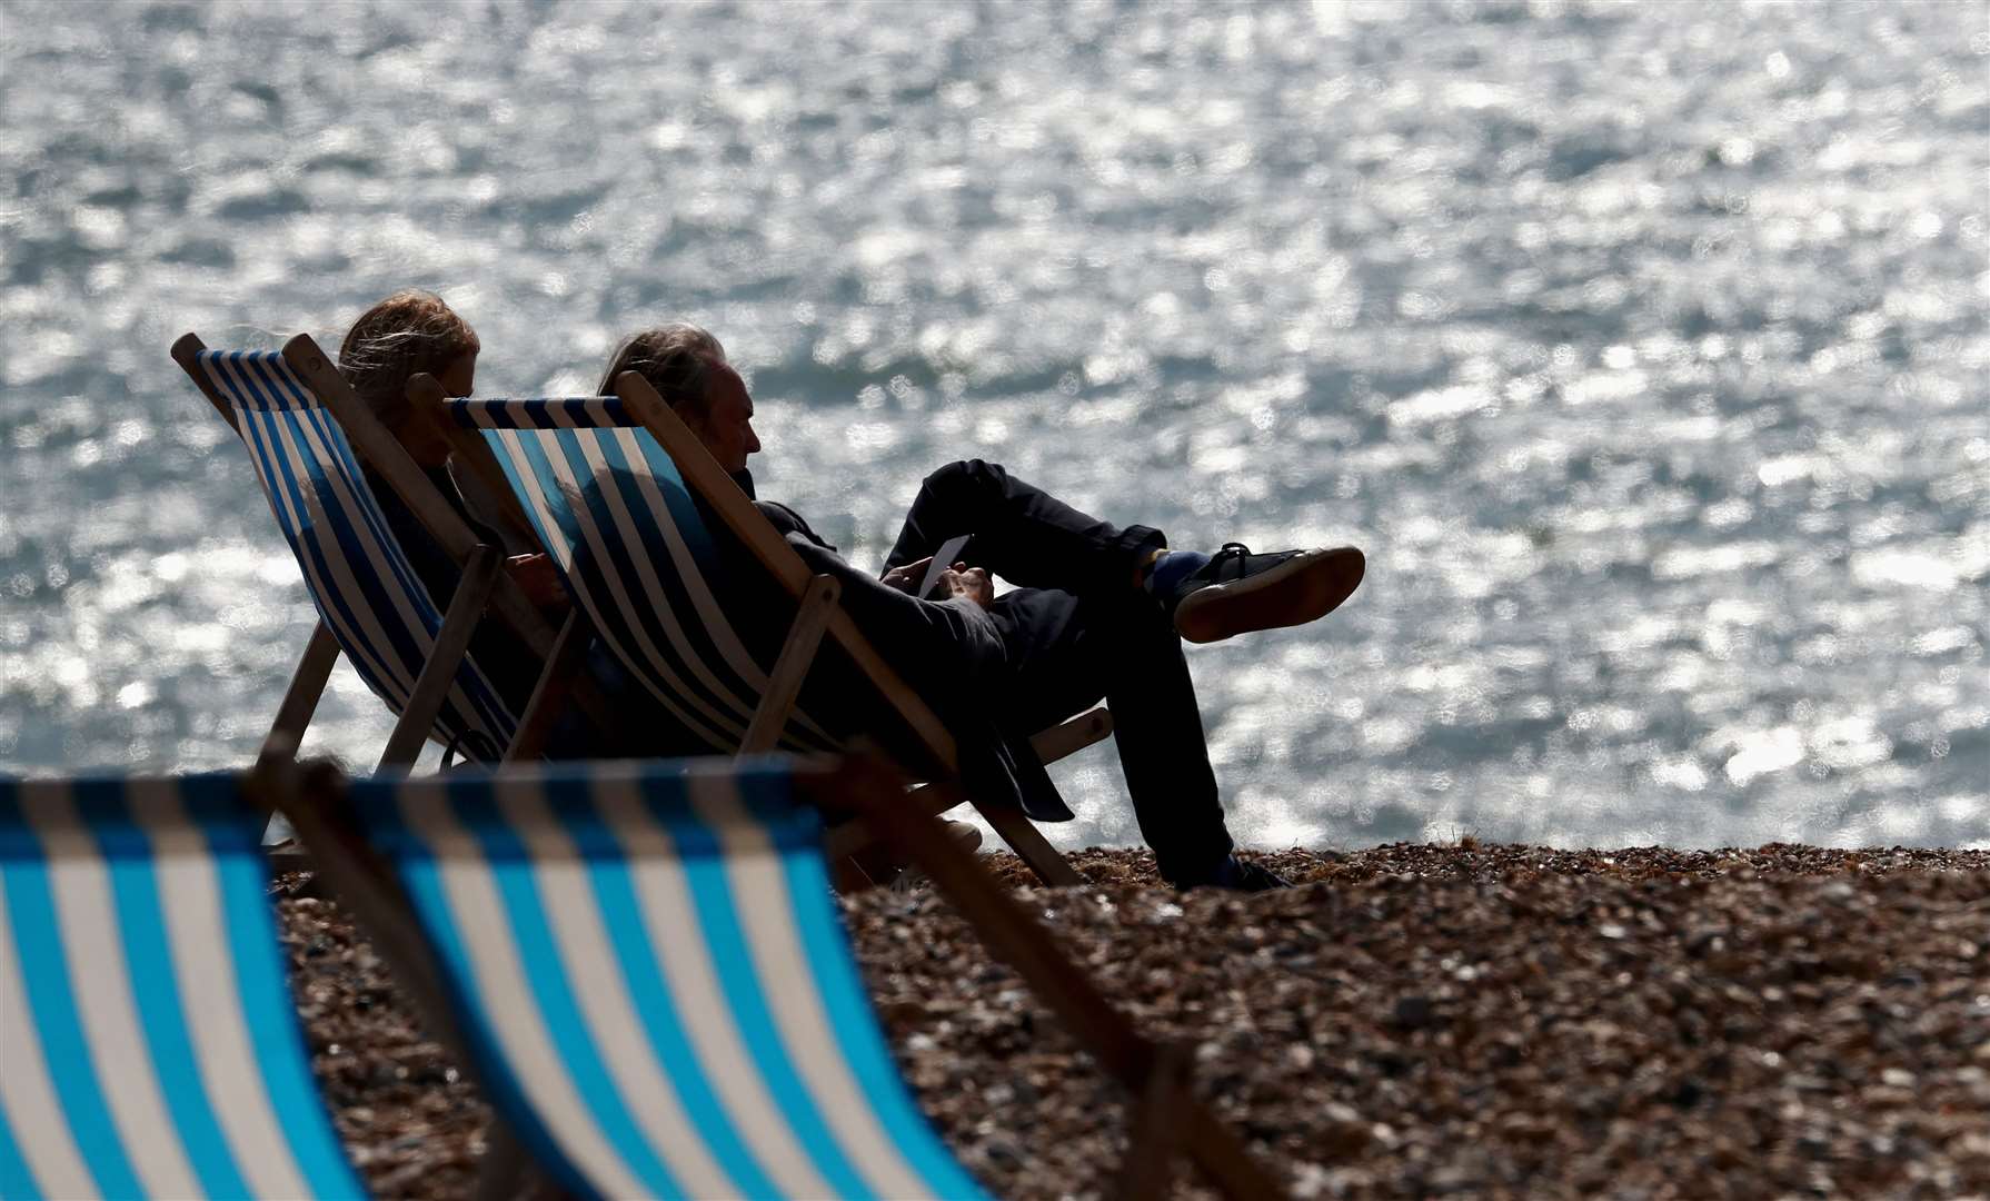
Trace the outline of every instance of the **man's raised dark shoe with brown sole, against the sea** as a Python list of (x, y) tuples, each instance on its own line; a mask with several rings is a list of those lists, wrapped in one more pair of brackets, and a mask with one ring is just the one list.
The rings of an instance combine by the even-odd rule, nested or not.
[(1353, 596), (1365, 570), (1353, 546), (1252, 554), (1242, 542), (1226, 542), (1174, 590), (1174, 631), (1186, 641), (1222, 641), (1305, 625)]

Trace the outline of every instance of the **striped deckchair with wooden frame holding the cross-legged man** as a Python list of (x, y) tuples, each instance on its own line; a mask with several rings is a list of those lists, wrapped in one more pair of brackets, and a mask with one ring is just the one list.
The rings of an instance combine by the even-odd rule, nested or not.
[[(567, 592), (687, 733), (716, 753), (834, 747), (822, 725), (794, 707), (828, 637), (925, 749), (929, 771), (951, 777), (953, 737), (838, 607), (836, 580), (810, 576), (647, 380), (629, 372), (617, 388), (617, 396), (444, 400), (434, 380), (416, 376), (408, 394), (414, 404), (446, 404), (456, 426), (482, 434)], [(458, 458), (476, 468), (478, 446), (460, 444)], [(798, 605), (770, 669), (748, 655), (724, 607), (736, 590), (758, 582), (726, 578), (716, 532), (693, 496)], [(1110, 715), (1094, 709), (1045, 731), (1035, 745), (1049, 763), (1108, 731)], [(1045, 882), (1081, 882), (1019, 811), (985, 807), (981, 815)], [(836, 850), (856, 850), (874, 835), (840, 833)]]

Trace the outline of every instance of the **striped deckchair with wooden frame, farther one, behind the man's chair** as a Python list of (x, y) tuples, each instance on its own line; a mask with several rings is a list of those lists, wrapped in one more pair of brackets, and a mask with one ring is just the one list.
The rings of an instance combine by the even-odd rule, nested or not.
[[(428, 739), (480, 763), (535, 753), (555, 697), (533, 697), (533, 721), (521, 721), (468, 657), (470, 635), (494, 607), (541, 657), (571, 655), (571, 639), (555, 639), (503, 578), (501, 550), (478, 542), (324, 353), (308, 337), (273, 353), (207, 351), (185, 335), (173, 359), (241, 434), (318, 609), (265, 749), (297, 745), (344, 653), (400, 715), (382, 767), (414, 763)], [(354, 448), (464, 566), (448, 613), (394, 540)]]

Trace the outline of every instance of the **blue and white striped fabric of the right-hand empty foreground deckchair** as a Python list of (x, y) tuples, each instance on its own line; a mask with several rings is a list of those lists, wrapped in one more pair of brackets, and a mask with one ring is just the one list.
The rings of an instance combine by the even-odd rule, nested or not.
[(601, 1197), (981, 1197), (913, 1105), (778, 761), (354, 783), (494, 1103)]

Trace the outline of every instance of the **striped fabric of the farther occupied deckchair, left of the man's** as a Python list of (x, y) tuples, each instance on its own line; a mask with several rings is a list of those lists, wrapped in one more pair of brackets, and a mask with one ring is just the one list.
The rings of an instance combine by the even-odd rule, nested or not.
[[(442, 613), (394, 540), (344, 430), (281, 353), (203, 351), (199, 360), (235, 406), (318, 615), (366, 687), (400, 713)], [(468, 759), (498, 763), (515, 727), (498, 689), (466, 657), (434, 737)]]

